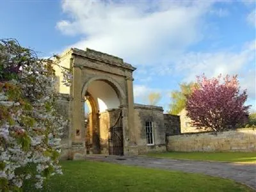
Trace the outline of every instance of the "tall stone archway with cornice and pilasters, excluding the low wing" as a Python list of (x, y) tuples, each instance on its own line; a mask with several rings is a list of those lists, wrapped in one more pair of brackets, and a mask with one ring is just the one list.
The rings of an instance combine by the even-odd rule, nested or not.
[[(133, 100), (133, 77), (132, 72), (136, 69), (132, 65), (125, 63), (122, 58), (111, 56), (92, 49), (69, 49), (61, 54), (58, 64), (70, 68), (72, 71), (72, 86), (65, 87), (61, 83), (63, 75), (56, 68), (56, 74), (59, 83), (56, 89), (61, 94), (66, 94), (69, 98), (65, 101), (65, 106), (68, 111), (67, 116), (70, 120), (70, 127), (68, 128), (68, 137), (63, 140), (67, 146), (68, 153), (72, 154), (72, 158), (83, 158), (86, 155), (86, 128), (84, 125), (84, 96), (88, 93), (92, 97), (95, 94), (90, 90), (90, 84), (93, 83), (106, 83), (113, 90), (112, 93), (116, 97), (110, 97), (108, 100), (102, 102), (105, 104), (104, 110), (100, 107), (98, 99), (93, 98), (88, 100), (89, 104), (94, 106), (92, 109), (93, 119), (103, 118), (103, 112), (107, 111), (108, 116), (115, 116), (115, 109), (118, 108), (122, 111), (122, 127), (124, 131), (124, 154), (138, 154), (136, 148), (136, 138), (134, 136), (134, 100)], [(97, 85), (96, 85), (97, 86)], [(89, 90), (88, 90), (89, 89)], [(110, 94), (111, 95), (111, 94)], [(112, 100), (111, 100), (112, 98)], [(116, 100), (118, 100), (116, 104)], [(62, 102), (62, 101), (61, 101)], [(114, 108), (114, 110), (113, 110)], [(101, 110), (102, 109), (102, 110)], [(97, 116), (98, 115), (98, 116)], [(112, 117), (110, 118), (112, 119)], [(92, 120), (91, 120), (92, 121)], [(98, 120), (99, 125), (94, 122), (92, 127), (98, 126), (98, 131), (101, 132), (102, 120)], [(111, 120), (108, 127), (112, 124)], [(94, 128), (97, 130), (97, 128)], [(104, 134), (101, 134), (100, 139), (100, 153), (105, 153), (104, 144), (102, 142)], [(137, 151), (136, 151), (137, 150)], [(95, 150), (96, 151), (96, 150)]]

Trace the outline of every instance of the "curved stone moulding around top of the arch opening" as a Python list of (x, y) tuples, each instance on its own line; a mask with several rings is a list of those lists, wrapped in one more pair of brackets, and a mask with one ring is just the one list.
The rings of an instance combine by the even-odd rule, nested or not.
[(120, 101), (120, 105), (125, 104), (125, 93), (124, 90), (122, 90), (121, 86), (111, 77), (92, 77), (91, 79), (89, 79), (88, 81), (83, 83), (83, 88), (82, 88), (82, 92), (81, 92), (81, 99), (83, 100), (84, 95), (86, 93), (86, 91), (88, 90), (88, 86), (90, 85), (90, 83), (92, 83), (93, 81), (104, 81), (106, 83), (108, 83), (113, 90), (115, 90), (116, 95)]

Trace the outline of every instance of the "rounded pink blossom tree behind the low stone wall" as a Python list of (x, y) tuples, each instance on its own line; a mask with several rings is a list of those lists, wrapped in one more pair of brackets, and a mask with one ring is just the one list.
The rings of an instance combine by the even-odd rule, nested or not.
[[(223, 80), (223, 81), (222, 81)], [(186, 95), (187, 115), (198, 128), (223, 131), (246, 120), (250, 106), (244, 106), (246, 90), (239, 92), (237, 76), (207, 79), (199, 76), (198, 87)]]

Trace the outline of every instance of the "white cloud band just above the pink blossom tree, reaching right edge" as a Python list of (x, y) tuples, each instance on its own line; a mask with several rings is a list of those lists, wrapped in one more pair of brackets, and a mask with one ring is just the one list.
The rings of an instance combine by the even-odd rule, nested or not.
[(195, 77), (205, 74), (216, 77), (219, 74), (238, 74), (241, 88), (248, 90), (250, 99), (255, 93), (255, 48), (256, 41), (245, 44), (240, 52), (190, 52), (177, 63), (177, 72), (183, 72), (184, 81), (195, 81)]

